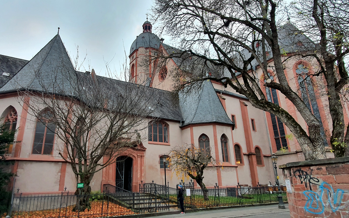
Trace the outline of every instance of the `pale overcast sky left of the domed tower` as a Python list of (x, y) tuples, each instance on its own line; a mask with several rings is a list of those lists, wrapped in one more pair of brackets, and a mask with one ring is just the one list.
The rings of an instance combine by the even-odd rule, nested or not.
[[(30, 60), (56, 34), (70, 57), (90, 61), (105, 76), (105, 61), (119, 71), (132, 42), (142, 33), (151, 0), (0, 0), (0, 54)], [(154, 26), (153, 26), (154, 29)], [(165, 41), (166, 41), (166, 37)], [(104, 60), (103, 60), (104, 58)], [(88, 67), (86, 62), (85, 67)], [(83, 71), (83, 69), (81, 69)]]

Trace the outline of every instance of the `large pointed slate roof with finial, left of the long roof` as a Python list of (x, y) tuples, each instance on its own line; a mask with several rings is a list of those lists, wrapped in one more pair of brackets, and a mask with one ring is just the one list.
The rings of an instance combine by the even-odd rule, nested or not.
[(30, 89), (74, 95), (76, 87), (75, 69), (57, 34), (0, 88), (0, 93)]

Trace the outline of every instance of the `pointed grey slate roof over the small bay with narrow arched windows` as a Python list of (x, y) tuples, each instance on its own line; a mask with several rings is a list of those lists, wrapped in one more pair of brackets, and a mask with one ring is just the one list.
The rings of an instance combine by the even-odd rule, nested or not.
[[(193, 89), (193, 87), (191, 87)], [(199, 123), (233, 125), (210, 81), (204, 81), (193, 91), (179, 93), (179, 104), (184, 113), (182, 126)]]

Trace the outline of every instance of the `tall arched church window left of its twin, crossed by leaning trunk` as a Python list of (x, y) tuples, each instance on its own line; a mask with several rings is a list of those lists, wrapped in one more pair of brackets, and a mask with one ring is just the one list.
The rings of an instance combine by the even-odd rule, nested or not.
[[(274, 79), (274, 77), (272, 75), (270, 75), (270, 73), (268, 73), (268, 75), (269, 75), (270, 79), (272, 79), (272, 80)], [(264, 80), (264, 82), (266, 82), (266, 80)], [(279, 99), (277, 98), (276, 89), (270, 88), (270, 87), (265, 87), (265, 91), (267, 93), (268, 101), (272, 102), (276, 105), (279, 105)], [(286, 140), (286, 135), (285, 135), (284, 124), (274, 114), (270, 113), (270, 117), (272, 118), (276, 149), (280, 150), (282, 147), (287, 147), (287, 140)]]

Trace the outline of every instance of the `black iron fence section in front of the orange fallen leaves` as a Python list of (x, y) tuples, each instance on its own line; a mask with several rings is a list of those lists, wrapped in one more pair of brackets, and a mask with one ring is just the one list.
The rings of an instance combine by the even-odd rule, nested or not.
[[(89, 204), (82, 204), (83, 199), (88, 199)], [(11, 217), (14, 218), (92, 218), (136, 213), (132, 209), (123, 207), (106, 193), (75, 195), (69, 192), (55, 195), (16, 194), (11, 211)], [(6, 214), (3, 215), (5, 216)]]

